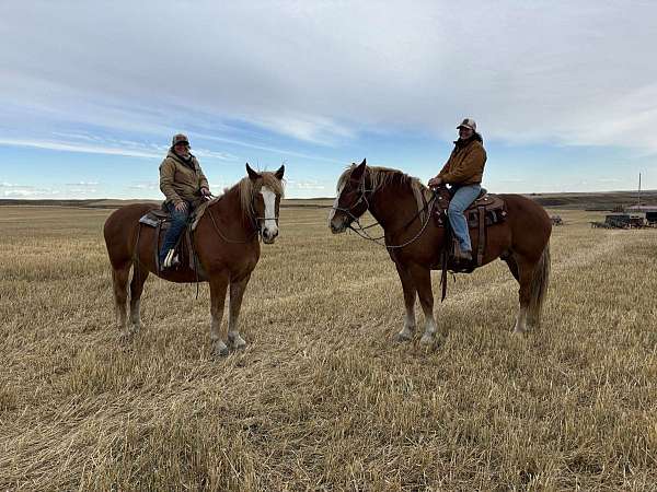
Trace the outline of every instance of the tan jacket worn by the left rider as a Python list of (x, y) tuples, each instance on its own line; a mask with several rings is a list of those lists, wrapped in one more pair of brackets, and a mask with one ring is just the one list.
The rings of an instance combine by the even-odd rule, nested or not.
[(191, 164), (194, 168), (185, 164), (172, 150), (160, 164), (160, 189), (168, 202), (177, 204), (182, 201), (199, 201), (200, 188), (209, 188), (208, 180), (194, 155)]

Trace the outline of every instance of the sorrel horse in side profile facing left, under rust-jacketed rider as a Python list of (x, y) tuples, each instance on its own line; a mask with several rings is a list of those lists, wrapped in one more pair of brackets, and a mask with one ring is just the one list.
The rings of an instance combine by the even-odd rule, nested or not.
[[(334, 234), (346, 231), (366, 210), (383, 227), (384, 242), (394, 261), (402, 288), (406, 315), (400, 341), (413, 338), (415, 297), (425, 315), (422, 343), (431, 343), (436, 335), (431, 270), (440, 269), (446, 232), (430, 214), (423, 222), (418, 194), (430, 201), (433, 191), (417, 178), (396, 169), (368, 167), (366, 161), (353, 164), (337, 181), (337, 198), (328, 223)], [(482, 265), (502, 258), (520, 284), (520, 307), (515, 333), (538, 327), (550, 276), (550, 234), (552, 223), (545, 210), (520, 195), (499, 195), (507, 206), (507, 220), (489, 225)], [(422, 202), (422, 201), (420, 201)], [(428, 222), (426, 222), (428, 221)], [(477, 237), (471, 234), (473, 251)]]

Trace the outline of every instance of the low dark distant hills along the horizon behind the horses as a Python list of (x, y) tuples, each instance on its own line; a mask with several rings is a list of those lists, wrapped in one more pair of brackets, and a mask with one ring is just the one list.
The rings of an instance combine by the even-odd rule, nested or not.
[[(579, 210), (613, 210), (618, 207), (636, 204), (636, 191), (604, 191), (604, 192), (573, 192), (573, 194), (528, 194), (526, 197), (551, 209)], [(644, 204), (657, 204), (657, 190), (642, 191), (641, 201)], [(161, 203), (161, 200), (10, 200), (0, 199), (0, 206), (32, 206), (32, 207), (79, 207), (90, 209), (116, 209), (129, 203)], [(333, 198), (291, 198), (285, 199), (281, 207), (327, 208)]]

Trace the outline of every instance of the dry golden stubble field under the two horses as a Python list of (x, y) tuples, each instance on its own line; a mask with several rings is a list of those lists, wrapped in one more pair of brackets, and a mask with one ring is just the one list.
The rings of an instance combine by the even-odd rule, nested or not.
[(0, 208), (0, 490), (657, 490), (657, 231), (560, 211), (541, 329), (497, 261), (425, 349), (387, 253), (286, 208), (212, 360), (205, 284), (151, 277), (119, 342), (110, 212)]

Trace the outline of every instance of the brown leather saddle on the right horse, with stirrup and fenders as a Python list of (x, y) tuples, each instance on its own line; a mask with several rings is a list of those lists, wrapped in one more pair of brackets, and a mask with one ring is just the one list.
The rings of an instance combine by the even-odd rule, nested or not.
[[(433, 214), (436, 225), (445, 227), (448, 231), (448, 237), (451, 237), (451, 227), (447, 216), (447, 209), (451, 200), (451, 194), (447, 187), (440, 187), (437, 190), (438, 197), (435, 201)], [(507, 216), (506, 203), (497, 195), (489, 195), (488, 191), (482, 188), (479, 197), (463, 212), (468, 222), (468, 229), (475, 229), (477, 233), (476, 257), (473, 258), (471, 265), (459, 265), (453, 260), (453, 248), (449, 248), (451, 258), (445, 258), (443, 266), (452, 271), (470, 273), (476, 267), (481, 267), (484, 260), (484, 251), (486, 249), (486, 229), (489, 225), (495, 225), (504, 222)], [(456, 238), (452, 238), (456, 242)], [(457, 246), (458, 247), (458, 243)], [(447, 248), (446, 248), (447, 249)]]

